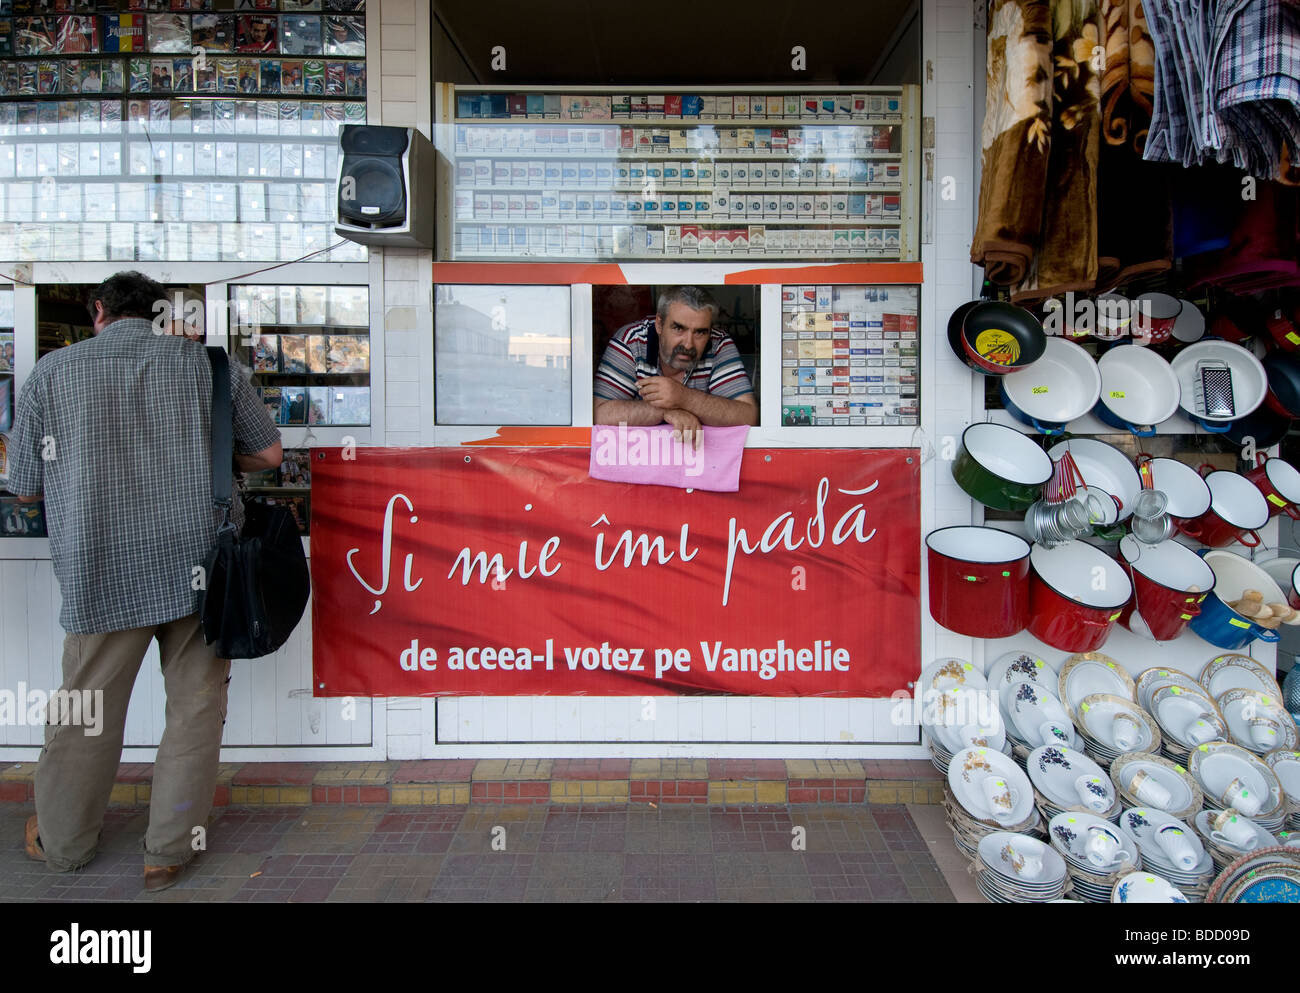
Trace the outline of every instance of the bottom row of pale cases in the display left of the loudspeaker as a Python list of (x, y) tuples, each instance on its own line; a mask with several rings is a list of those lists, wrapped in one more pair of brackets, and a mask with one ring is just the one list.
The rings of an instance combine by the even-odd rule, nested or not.
[[(17, 261), (276, 261), (315, 255), (365, 260), (365, 247), (338, 238), (328, 224), (13, 224), (0, 222), (0, 244)], [(328, 255), (317, 255), (325, 252)]]

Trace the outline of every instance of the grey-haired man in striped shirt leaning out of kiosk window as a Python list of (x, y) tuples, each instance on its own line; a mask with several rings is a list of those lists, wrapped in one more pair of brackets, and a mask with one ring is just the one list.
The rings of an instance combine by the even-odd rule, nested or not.
[(654, 317), (620, 329), (595, 372), (595, 424), (671, 424), (699, 445), (701, 425), (758, 424), (736, 343), (714, 328), (719, 307), (697, 286), (659, 294)]

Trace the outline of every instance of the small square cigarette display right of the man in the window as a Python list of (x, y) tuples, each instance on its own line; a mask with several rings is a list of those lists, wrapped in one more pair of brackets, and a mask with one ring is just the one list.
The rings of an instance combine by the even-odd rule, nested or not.
[(781, 287), (781, 425), (919, 422), (914, 286)]

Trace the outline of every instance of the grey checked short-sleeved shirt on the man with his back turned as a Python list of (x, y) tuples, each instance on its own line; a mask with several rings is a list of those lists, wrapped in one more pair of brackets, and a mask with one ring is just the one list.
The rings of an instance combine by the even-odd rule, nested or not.
[[(247, 370), (230, 363), (235, 451), (280, 439)], [(73, 634), (198, 610), (194, 568), (216, 541), (212, 367), (203, 346), (117, 321), (51, 352), (14, 412), (9, 490), (43, 493), (49, 551)], [(243, 513), (234, 500), (235, 522)]]

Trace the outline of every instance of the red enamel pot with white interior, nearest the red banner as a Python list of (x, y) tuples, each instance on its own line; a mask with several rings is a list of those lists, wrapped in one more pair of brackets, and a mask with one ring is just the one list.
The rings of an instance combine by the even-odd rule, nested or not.
[(1030, 623), (1030, 543), (997, 528), (926, 537), (930, 616), (972, 638), (1010, 638)]

